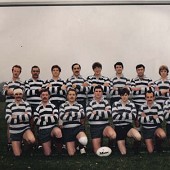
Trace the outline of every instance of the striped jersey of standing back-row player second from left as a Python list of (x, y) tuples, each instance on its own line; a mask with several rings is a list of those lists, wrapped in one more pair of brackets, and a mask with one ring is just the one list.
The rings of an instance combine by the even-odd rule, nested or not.
[(25, 81), (25, 95), (26, 100), (30, 103), (31, 106), (37, 107), (40, 102), (40, 92), (39, 89), (42, 89), (44, 85), (43, 80), (34, 80), (30, 78), (29, 80)]

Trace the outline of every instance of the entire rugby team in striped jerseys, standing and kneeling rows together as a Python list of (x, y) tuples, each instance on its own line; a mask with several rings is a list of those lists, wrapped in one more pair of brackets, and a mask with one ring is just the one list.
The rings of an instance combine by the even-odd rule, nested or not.
[(170, 137), (166, 65), (159, 67), (155, 81), (145, 75), (143, 64), (136, 65), (137, 76), (131, 80), (124, 76), (122, 62), (114, 64), (112, 79), (102, 75), (100, 62), (92, 64), (93, 74), (87, 78), (81, 76), (80, 64), (70, 68), (67, 80), (60, 78), (58, 65), (51, 67), (51, 79), (41, 80), (35, 65), (31, 78), (21, 81), (22, 67), (12, 67), (12, 79), (2, 91), (8, 151), (18, 157), (23, 147), (29, 152), (41, 148), (50, 156), (55, 147), (61, 155), (74, 156), (87, 154), (90, 145), (90, 152), (100, 157), (115, 148), (126, 155), (127, 138), (132, 138), (134, 154), (140, 154), (142, 143), (149, 154), (163, 152), (162, 143)]

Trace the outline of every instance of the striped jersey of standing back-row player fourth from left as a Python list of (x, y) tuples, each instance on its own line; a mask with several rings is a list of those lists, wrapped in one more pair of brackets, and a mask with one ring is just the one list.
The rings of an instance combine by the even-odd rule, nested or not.
[(73, 84), (76, 84), (76, 91), (77, 91), (77, 101), (85, 100), (87, 97), (88, 87), (82, 86), (86, 80), (82, 76), (71, 76), (67, 79), (67, 90), (72, 88)]

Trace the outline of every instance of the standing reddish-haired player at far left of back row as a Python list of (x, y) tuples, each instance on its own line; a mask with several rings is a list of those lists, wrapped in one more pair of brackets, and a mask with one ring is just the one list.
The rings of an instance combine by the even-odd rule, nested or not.
[[(5, 82), (3, 86), (3, 92), (2, 94), (6, 97), (6, 106), (14, 101), (14, 94), (13, 90), (14, 88), (21, 87), (24, 89), (24, 83), (20, 80), (20, 74), (21, 74), (22, 68), (20, 65), (14, 65), (12, 67), (12, 79), (8, 82)], [(5, 106), (5, 108), (6, 108)], [(11, 140), (9, 135), (9, 127), (7, 125), (7, 149), (11, 150)]]

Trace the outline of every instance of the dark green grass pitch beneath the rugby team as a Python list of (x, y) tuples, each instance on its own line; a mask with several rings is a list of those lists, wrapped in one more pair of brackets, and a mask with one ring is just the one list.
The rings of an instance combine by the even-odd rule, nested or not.
[[(26, 169), (56, 169), (56, 170), (157, 170), (169, 169), (170, 152), (167, 142), (164, 144), (163, 153), (148, 155), (145, 147), (139, 155), (132, 151), (132, 140), (128, 140), (128, 154), (121, 156), (118, 150), (113, 151), (109, 157), (97, 157), (91, 152), (89, 141), (87, 155), (77, 154), (74, 157), (59, 155), (53, 151), (52, 156), (45, 157), (42, 151), (34, 151), (31, 155), (24, 153), (20, 158), (15, 158), (12, 152), (6, 150), (6, 123), (4, 120), (4, 103), (0, 103), (0, 169), (1, 170), (26, 170)], [(104, 141), (105, 142), (105, 141)]]

